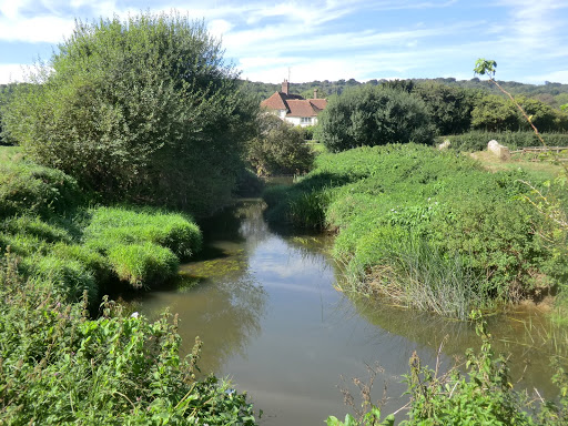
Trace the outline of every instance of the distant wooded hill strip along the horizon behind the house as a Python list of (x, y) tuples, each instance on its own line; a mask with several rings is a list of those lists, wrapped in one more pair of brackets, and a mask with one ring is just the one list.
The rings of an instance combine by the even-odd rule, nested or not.
[[(464, 89), (480, 90), (485, 92), (500, 93), (499, 90), (487, 80), (474, 78), (471, 80), (456, 80), (454, 78), (438, 78), (438, 79), (409, 79), (414, 84), (422, 83), (439, 83), (450, 87), (459, 87)], [(318, 89), (318, 93), (324, 95), (341, 94), (346, 88), (361, 85), (361, 84), (383, 84), (388, 80), (369, 80), (366, 82), (358, 82), (354, 79), (337, 80), (337, 81), (311, 81), (307, 83), (290, 83), (290, 92), (303, 94), (311, 98), (314, 89)], [(538, 99), (551, 106), (558, 108), (561, 104), (568, 103), (568, 84), (546, 82), (545, 84), (526, 84), (516, 81), (498, 81), (499, 84), (514, 95), (524, 94), (529, 98)], [(281, 84), (251, 82), (244, 81), (244, 87), (254, 93), (258, 101), (268, 98), (276, 90), (281, 89)]]

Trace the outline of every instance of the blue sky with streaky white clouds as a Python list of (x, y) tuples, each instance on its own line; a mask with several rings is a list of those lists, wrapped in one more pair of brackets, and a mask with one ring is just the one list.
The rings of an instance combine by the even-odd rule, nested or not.
[(0, 0), (0, 83), (21, 80), (74, 19), (178, 10), (204, 19), (251, 81), (474, 77), (568, 83), (568, 0)]

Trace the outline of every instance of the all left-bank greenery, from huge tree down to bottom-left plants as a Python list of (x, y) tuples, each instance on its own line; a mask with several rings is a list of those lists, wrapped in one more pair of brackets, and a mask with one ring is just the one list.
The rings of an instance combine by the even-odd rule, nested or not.
[(34, 78), (0, 105), (0, 423), (254, 425), (175, 320), (103, 296), (173, 280), (201, 247), (187, 211), (245, 180), (257, 105), (219, 43), (176, 14), (78, 22)]

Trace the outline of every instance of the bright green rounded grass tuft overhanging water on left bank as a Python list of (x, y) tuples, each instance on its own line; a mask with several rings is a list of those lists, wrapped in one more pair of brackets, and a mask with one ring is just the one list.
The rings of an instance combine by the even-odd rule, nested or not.
[(108, 257), (119, 278), (134, 288), (161, 284), (178, 273), (175, 254), (153, 243), (116, 244), (109, 250)]

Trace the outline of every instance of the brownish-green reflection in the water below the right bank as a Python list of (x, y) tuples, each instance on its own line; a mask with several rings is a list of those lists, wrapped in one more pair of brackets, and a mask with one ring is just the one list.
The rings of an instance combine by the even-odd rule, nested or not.
[[(387, 303), (373, 303), (365, 297), (351, 297), (357, 313), (377, 326), (375, 342), (381, 342), (388, 333), (404, 336), (422, 347), (418, 355), (426, 355), (433, 366), (434, 354), (442, 346), (445, 365), (454, 365), (463, 359), (467, 348), (479, 349), (480, 338), (475, 333), (474, 324), (442, 318), (437, 315), (406, 310)], [(491, 346), (496, 354), (509, 356), (510, 375), (517, 387), (532, 390), (539, 389), (542, 396), (555, 398), (558, 388), (550, 382), (554, 371), (550, 358), (556, 347), (546, 335), (538, 335), (539, 328), (546, 329), (547, 320), (541, 312), (526, 308), (493, 315), (486, 318), (490, 333)], [(527, 327), (527, 324), (532, 324)], [(452, 362), (450, 359), (454, 359)]]

